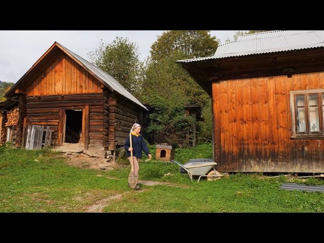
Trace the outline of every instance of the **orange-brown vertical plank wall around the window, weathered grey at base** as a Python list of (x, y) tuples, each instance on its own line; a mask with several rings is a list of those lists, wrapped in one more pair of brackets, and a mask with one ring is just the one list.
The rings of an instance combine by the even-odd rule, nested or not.
[(213, 83), (218, 170), (324, 172), (324, 140), (292, 140), (290, 112), (290, 91), (323, 88), (324, 72)]

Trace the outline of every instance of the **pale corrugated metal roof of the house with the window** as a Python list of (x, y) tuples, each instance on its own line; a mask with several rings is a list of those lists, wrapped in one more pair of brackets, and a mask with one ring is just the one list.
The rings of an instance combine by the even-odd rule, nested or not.
[(219, 45), (214, 56), (177, 62), (194, 62), (316, 47), (324, 47), (324, 30), (275, 30), (240, 35), (237, 41)]

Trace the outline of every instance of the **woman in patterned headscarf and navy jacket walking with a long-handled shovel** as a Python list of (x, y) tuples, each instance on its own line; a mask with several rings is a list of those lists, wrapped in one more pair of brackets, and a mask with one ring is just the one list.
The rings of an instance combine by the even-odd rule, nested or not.
[[(125, 142), (125, 150), (126, 150), (126, 156), (128, 156), (128, 159), (131, 162), (131, 151), (133, 151), (133, 161), (134, 161), (134, 177), (135, 181), (138, 180), (138, 172), (140, 170), (139, 167), (139, 158), (142, 157), (142, 150), (146, 153), (148, 158), (152, 158), (152, 155), (150, 154), (146, 142), (144, 141), (142, 135), (140, 135), (141, 132), (141, 126), (137, 123), (135, 123), (131, 129), (132, 134), (132, 148), (130, 147), (130, 137), (128, 136), (126, 138)], [(132, 171), (130, 173), (130, 176), (132, 175)], [(128, 184), (130, 186), (130, 184)], [(140, 189), (139, 185), (136, 183), (136, 186), (134, 188), (135, 190)]]

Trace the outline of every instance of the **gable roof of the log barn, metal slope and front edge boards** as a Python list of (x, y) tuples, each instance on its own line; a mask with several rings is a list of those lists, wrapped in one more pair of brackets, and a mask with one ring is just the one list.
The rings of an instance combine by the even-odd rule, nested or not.
[(134, 103), (138, 104), (139, 106), (143, 107), (147, 110), (147, 108), (138, 101), (131, 93), (129, 93), (122, 85), (120, 85), (115, 78), (113, 78), (111, 75), (103, 71), (101, 68), (97, 67), (96, 65), (92, 64), (91, 62), (87, 61), (86, 59), (80, 57), (79, 55), (73, 53), (66, 47), (62, 46), (61, 44), (55, 42), (52, 47), (41, 57), (39, 58), (32, 67), (18, 80), (18, 82), (5, 94), (5, 97), (10, 94), (17, 86), (18, 84), (24, 79), (24, 77), (27, 76), (28, 73), (31, 72), (31, 70), (42, 61), (42, 59), (54, 48), (58, 47), (63, 52), (65, 52), (68, 56), (70, 56), (74, 61), (76, 61), (79, 65), (84, 67), (88, 72), (90, 72), (92, 75), (94, 75), (103, 85), (105, 85), (107, 88), (109, 88), (111, 91), (115, 91), (118, 94), (128, 98), (129, 100), (133, 101)]

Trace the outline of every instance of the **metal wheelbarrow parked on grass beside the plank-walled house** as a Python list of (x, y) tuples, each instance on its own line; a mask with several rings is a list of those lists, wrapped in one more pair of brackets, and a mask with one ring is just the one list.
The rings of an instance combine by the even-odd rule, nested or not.
[(193, 176), (199, 176), (198, 182), (201, 177), (218, 178), (223, 176), (215, 170), (217, 163), (211, 162), (210, 159), (190, 159), (186, 165), (182, 165), (176, 160), (170, 161), (185, 170), (191, 181)]

